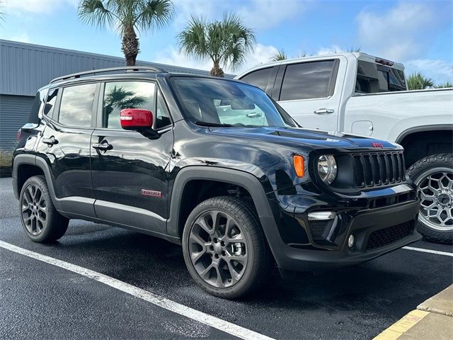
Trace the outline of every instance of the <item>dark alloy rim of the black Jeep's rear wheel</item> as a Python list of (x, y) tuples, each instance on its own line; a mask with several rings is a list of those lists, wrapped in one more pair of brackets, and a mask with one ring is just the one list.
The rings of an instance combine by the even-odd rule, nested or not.
[(39, 186), (30, 184), (25, 188), (21, 201), (22, 219), (32, 235), (39, 235), (45, 227), (47, 205)]

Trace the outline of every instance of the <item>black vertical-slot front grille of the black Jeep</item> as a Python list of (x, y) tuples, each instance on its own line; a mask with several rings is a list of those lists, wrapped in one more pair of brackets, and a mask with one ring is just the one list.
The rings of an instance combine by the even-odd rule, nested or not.
[(354, 154), (355, 185), (385, 186), (406, 181), (403, 152)]

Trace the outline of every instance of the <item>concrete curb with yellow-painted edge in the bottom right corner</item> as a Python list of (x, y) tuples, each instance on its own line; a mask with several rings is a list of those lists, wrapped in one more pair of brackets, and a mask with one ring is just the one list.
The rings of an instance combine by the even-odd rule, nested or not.
[(453, 285), (430, 297), (374, 340), (453, 339)]

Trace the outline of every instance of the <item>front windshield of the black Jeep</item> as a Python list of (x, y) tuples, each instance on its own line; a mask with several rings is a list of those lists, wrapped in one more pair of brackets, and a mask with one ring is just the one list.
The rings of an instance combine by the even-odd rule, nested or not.
[(194, 123), (222, 126), (296, 126), (260, 89), (237, 81), (172, 77), (171, 84)]

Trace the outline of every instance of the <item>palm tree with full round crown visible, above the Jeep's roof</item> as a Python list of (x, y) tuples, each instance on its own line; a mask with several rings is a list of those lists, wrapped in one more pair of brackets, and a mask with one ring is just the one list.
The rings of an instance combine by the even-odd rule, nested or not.
[(235, 14), (224, 14), (222, 21), (211, 23), (193, 16), (177, 39), (180, 50), (186, 55), (197, 60), (212, 60), (210, 74), (214, 77), (224, 77), (221, 64), (230, 69), (239, 67), (255, 45), (253, 30)]

